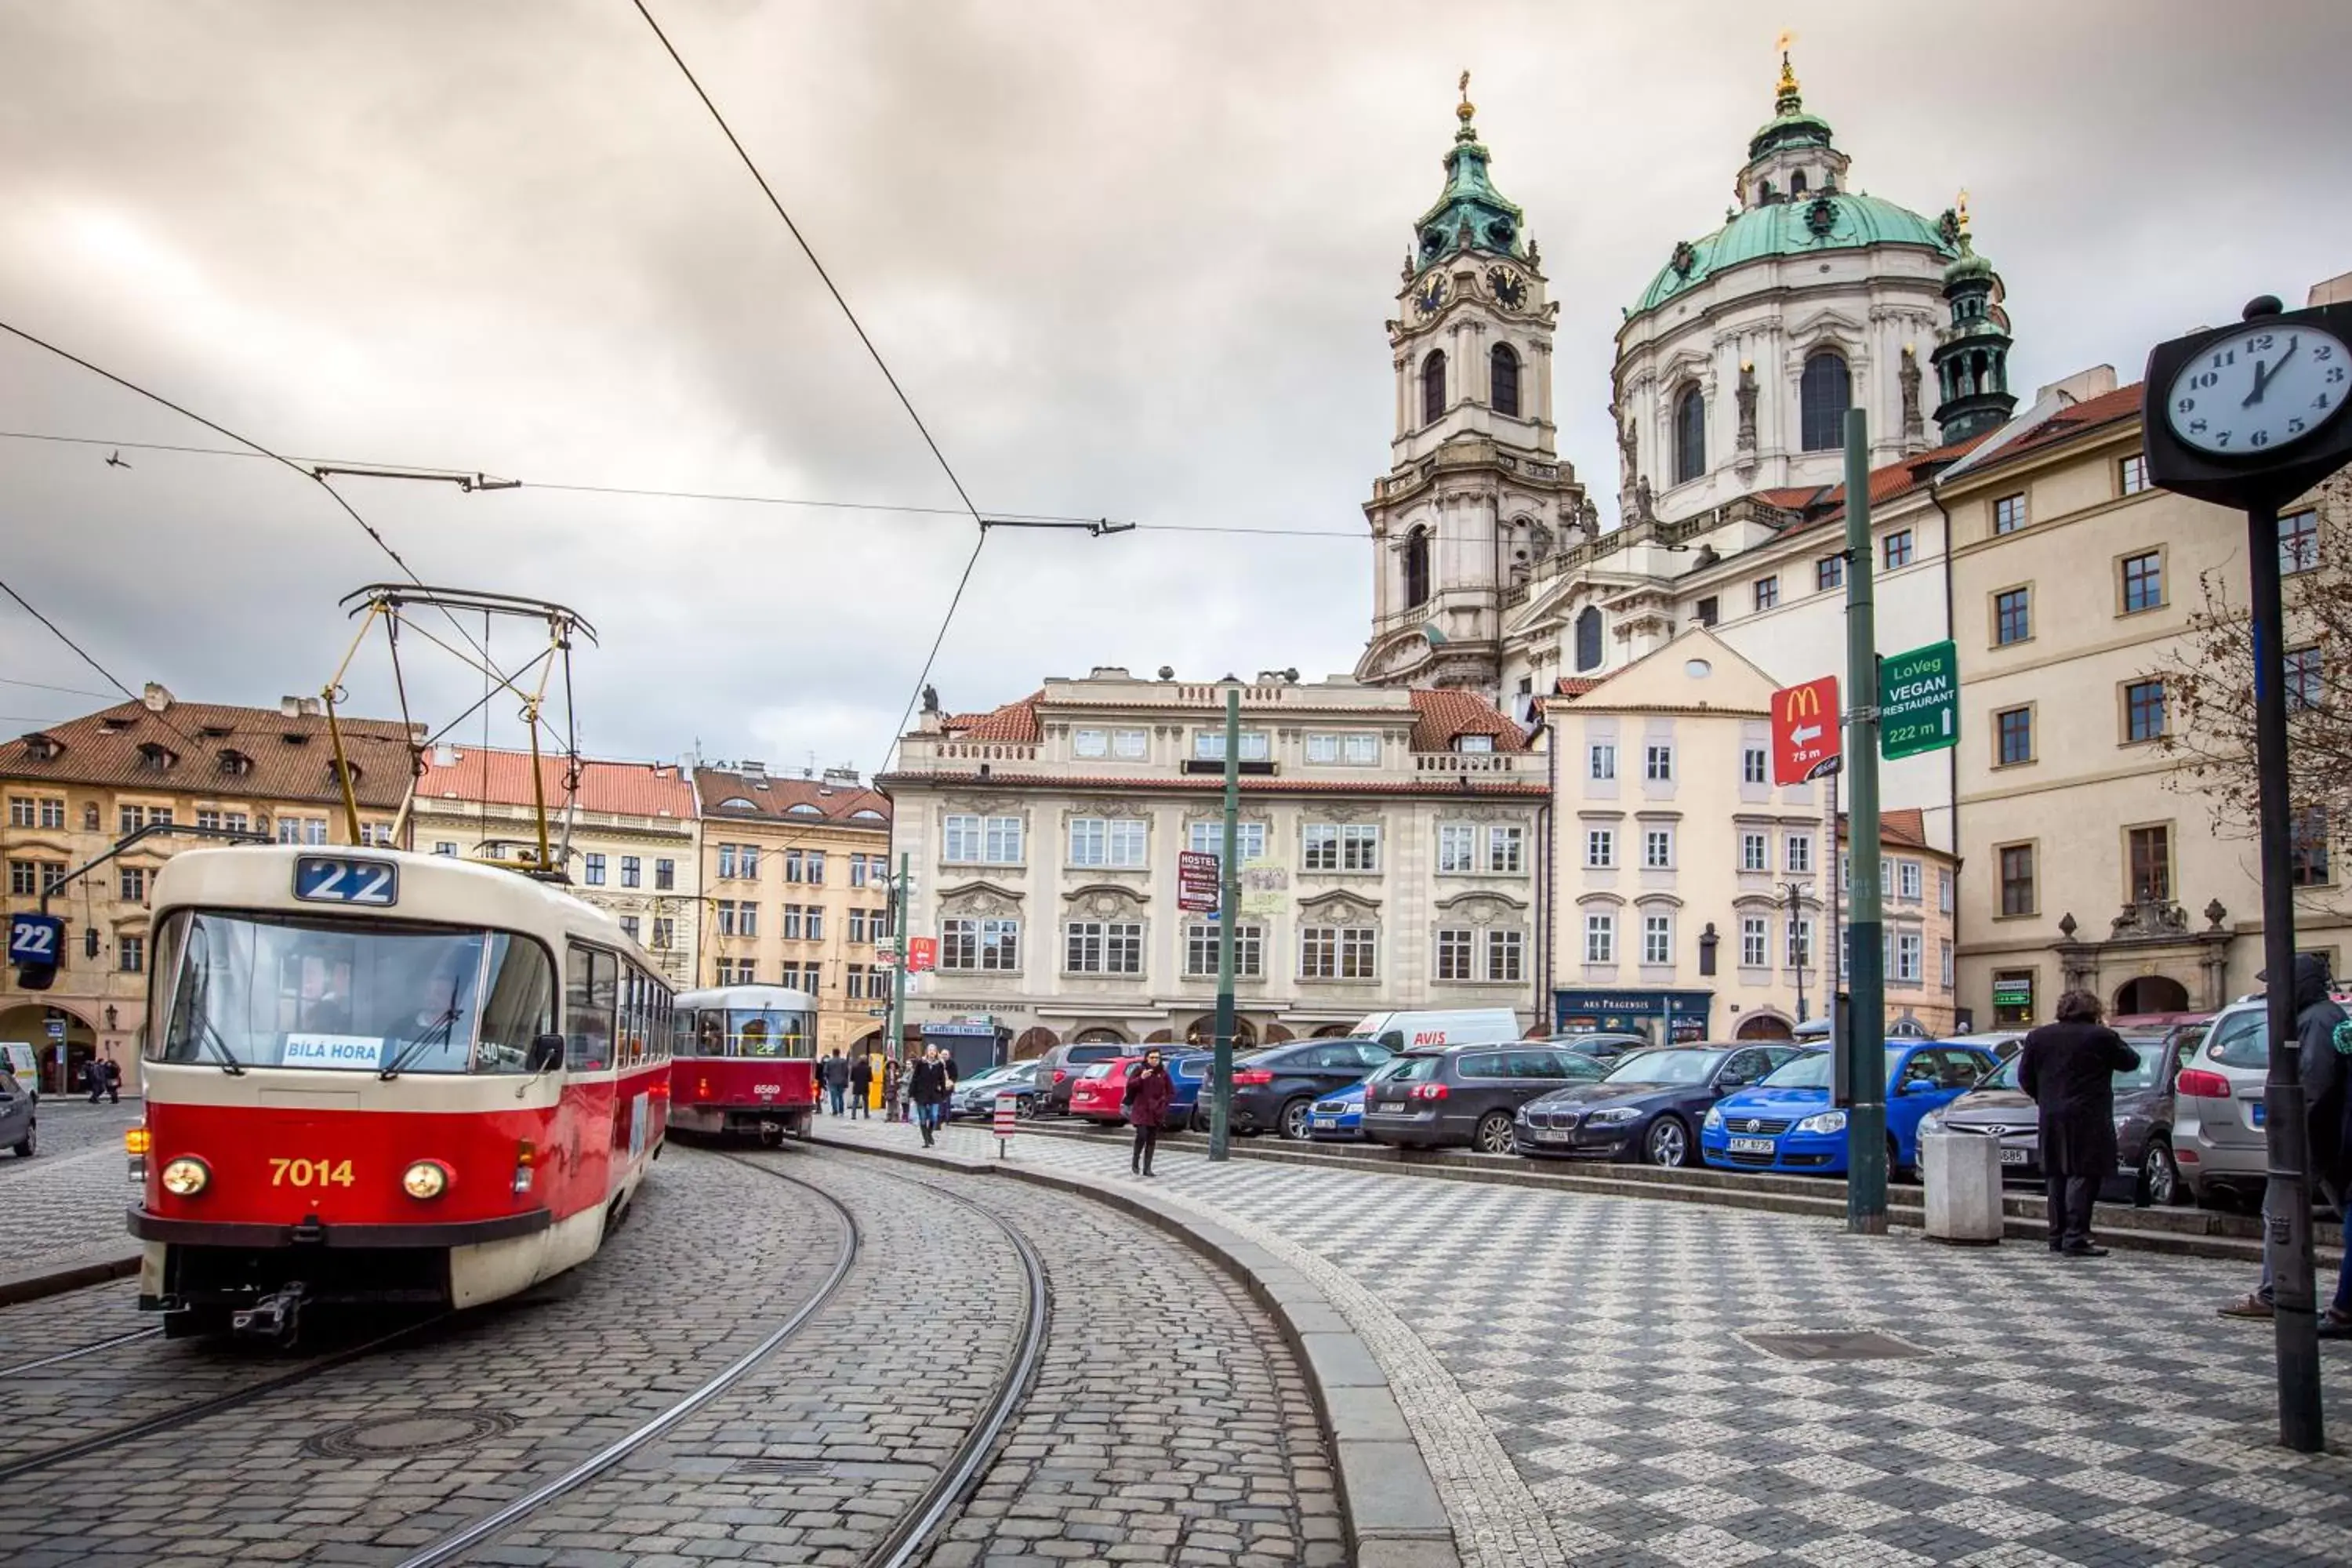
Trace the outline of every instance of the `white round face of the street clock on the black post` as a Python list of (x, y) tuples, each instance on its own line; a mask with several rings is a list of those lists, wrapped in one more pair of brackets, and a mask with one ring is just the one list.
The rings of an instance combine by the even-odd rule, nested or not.
[(2352, 355), (2317, 327), (2249, 324), (2173, 376), (2164, 418), (2197, 451), (2251, 456), (2328, 423), (2352, 393)]

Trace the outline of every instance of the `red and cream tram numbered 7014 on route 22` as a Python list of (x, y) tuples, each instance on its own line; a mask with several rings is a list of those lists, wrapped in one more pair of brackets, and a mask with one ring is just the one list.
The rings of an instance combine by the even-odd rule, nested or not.
[(513, 1295), (590, 1258), (661, 1147), (670, 992), (557, 886), (200, 849), (153, 931), (129, 1227), (174, 1333)]

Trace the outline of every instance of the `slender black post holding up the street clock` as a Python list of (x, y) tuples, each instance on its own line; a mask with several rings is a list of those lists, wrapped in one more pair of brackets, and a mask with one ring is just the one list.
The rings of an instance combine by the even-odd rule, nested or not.
[(2253, 585), (2253, 757), (2263, 809), (2263, 980), (2270, 1004), (2270, 1079), (2263, 1121), (2270, 1187), (2263, 1192), (2263, 1260), (2270, 1265), (2279, 1359), (2279, 1441), (2324, 1448), (2319, 1415), (2319, 1319), (2312, 1300), (2312, 1159), (2296, 1039), (2293, 806), (2286, 797), (2286, 611), (2279, 602), (2279, 508), (2246, 512)]

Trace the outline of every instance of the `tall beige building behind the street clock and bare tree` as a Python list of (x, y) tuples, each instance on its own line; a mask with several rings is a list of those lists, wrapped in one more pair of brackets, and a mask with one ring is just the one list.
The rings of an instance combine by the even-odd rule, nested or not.
[[(2256, 844), (2157, 743), (2176, 722), (2164, 663), (2204, 578), (2246, 602), (2244, 515), (2145, 484), (2138, 386), (2020, 433), (1940, 496), (1962, 668), (1962, 1004), (2009, 1025), (2046, 1020), (2074, 987), (2112, 1013), (2256, 990)], [(2343, 527), (2345, 508), (2340, 482), (2286, 508), (2281, 569), (2319, 569), (2319, 522)], [(2293, 637), (2291, 658), (2338, 656)], [(2340, 973), (2352, 903), (2331, 851), (2326, 835), (2298, 846), (2296, 945)]]

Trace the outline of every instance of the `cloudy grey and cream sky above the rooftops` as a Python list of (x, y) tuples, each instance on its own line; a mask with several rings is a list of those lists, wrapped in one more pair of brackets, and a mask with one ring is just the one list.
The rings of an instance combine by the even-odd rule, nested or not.
[[(649, 2), (974, 501), (1148, 524), (997, 534), (950, 708), (1352, 665), (1381, 322), (1463, 68), (1604, 498), (1621, 306), (1722, 221), (1783, 26), (1863, 190), (1971, 190), (2023, 386), (2352, 270), (2340, 0)], [(280, 451), (524, 480), (346, 494), (426, 581), (597, 623), (604, 755), (870, 769), (971, 548), (948, 515), (546, 489), (955, 505), (628, 0), (0, 2), (0, 320)], [(0, 430), (221, 444), (14, 339)], [(0, 576), (132, 686), (315, 691), (390, 562), (285, 468), (103, 456), (0, 440)], [(419, 677), (423, 717), (480, 693)], [(0, 679), (9, 731), (103, 686), (5, 602)], [(393, 712), (381, 654), (350, 686)]]

